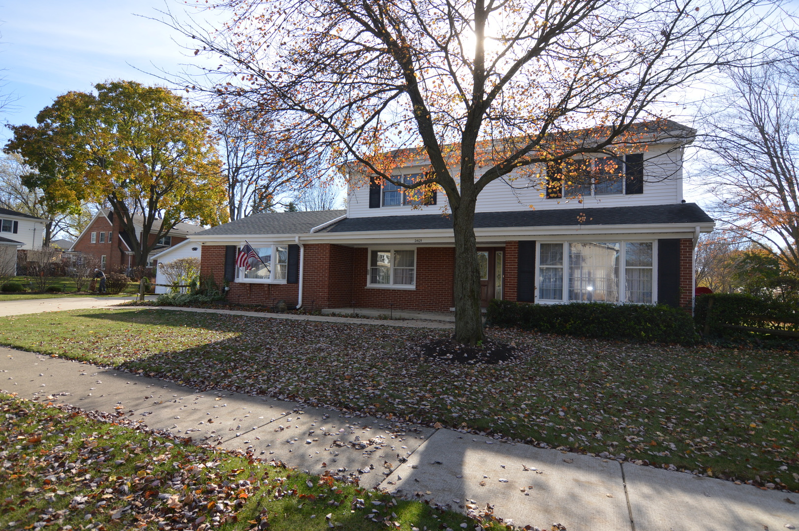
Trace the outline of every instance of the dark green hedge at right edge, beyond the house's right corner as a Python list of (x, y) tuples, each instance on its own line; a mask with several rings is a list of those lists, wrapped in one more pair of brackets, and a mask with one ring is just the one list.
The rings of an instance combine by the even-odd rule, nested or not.
[[(713, 299), (713, 306), (710, 307), (710, 319), (708, 319), (708, 303)], [(761, 319), (753, 319), (759, 317)], [(799, 320), (797, 307), (790, 303), (760, 299), (752, 295), (743, 293), (714, 293), (709, 295), (699, 295), (694, 303), (694, 320), (699, 330), (703, 330), (705, 323), (710, 325), (710, 334), (719, 336), (741, 336), (753, 335), (753, 332), (736, 331), (722, 325), (738, 324), (745, 327), (765, 327), (771, 328), (773, 323), (779, 323), (782, 319), (788, 321)], [(799, 326), (785, 326), (785, 330), (799, 331)]]

